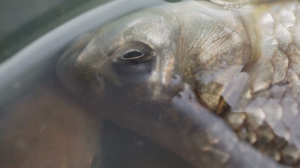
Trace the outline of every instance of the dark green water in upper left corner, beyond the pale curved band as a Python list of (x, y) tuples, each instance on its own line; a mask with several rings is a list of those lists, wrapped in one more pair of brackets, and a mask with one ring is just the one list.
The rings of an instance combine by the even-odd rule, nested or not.
[[(0, 36), (0, 62), (6, 60), (27, 44), (55, 27), (96, 6), (103, 5), (111, 1), (112, 0), (62, 0), (61, 3), (49, 8), (41, 15), (34, 16), (29, 19), (28, 17), (23, 17), (28, 20), (24, 21), (24, 24), (11, 27), (12, 29), (15, 28), (14, 31), (9, 33), (0, 31), (3, 33)], [(0, 13), (5, 13), (3, 14), (2, 20), (0, 20), (0, 30), (3, 29), (6, 24), (9, 24), (10, 21), (19, 19), (20, 22), (22, 22), (24, 20), (22, 20), (22, 16), (15, 16), (18, 18), (13, 18), (12, 16), (14, 16), (14, 13), (23, 12), (30, 15), (30, 10), (32, 13), (34, 13), (35, 10), (38, 11), (39, 6), (33, 5), (35, 2), (35, 0), (0, 1), (0, 4), (2, 5), (0, 7)], [(20, 3), (19, 6), (18, 3)], [(51, 2), (49, 1), (48, 3)], [(22, 7), (20, 7), (20, 5), (22, 5)], [(24, 12), (25, 10), (27, 11)]]

